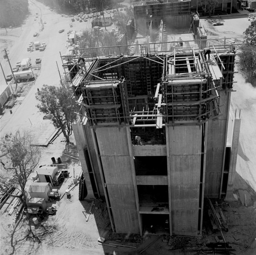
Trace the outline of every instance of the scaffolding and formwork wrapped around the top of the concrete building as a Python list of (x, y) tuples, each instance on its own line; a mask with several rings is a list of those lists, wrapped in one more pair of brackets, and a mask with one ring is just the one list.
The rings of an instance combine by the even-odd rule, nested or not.
[[(148, 48), (152, 45), (147, 44)], [(139, 45), (143, 49), (143, 45)], [(202, 125), (221, 111), (220, 90), (232, 90), (234, 45), (167, 53), (97, 56), (71, 81), (81, 120), (91, 126)], [(69, 71), (70, 72), (70, 71)]]

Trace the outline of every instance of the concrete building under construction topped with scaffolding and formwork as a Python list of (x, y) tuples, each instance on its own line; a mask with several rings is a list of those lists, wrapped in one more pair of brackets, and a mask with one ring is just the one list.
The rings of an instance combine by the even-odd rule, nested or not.
[(79, 106), (80, 198), (104, 197), (116, 233), (142, 235), (154, 224), (156, 233), (201, 235), (204, 198), (232, 191), (236, 54), (226, 41), (210, 44), (209, 60), (201, 40), (139, 44), (136, 53), (120, 46), (108, 56), (97, 54), (108, 49), (80, 49), (87, 73), (70, 80)]

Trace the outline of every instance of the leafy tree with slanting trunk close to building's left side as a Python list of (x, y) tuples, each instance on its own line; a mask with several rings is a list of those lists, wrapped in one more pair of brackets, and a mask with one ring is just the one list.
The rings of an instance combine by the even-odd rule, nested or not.
[(53, 116), (54, 127), (61, 129), (67, 143), (70, 142), (72, 123), (77, 117), (75, 113), (77, 107), (71, 96), (68, 83), (63, 83), (60, 87), (44, 84), (42, 89), (36, 93), (36, 99), (40, 102), (37, 108)]

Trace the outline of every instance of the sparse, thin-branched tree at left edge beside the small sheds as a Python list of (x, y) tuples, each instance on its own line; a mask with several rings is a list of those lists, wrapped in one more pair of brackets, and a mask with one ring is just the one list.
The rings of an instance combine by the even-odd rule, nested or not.
[(35, 170), (40, 159), (38, 147), (31, 146), (32, 138), (27, 133), (6, 134), (0, 143), (0, 190), (8, 193), (4, 187), (16, 187), (21, 194), (18, 197), (27, 208), (25, 186), (29, 175)]

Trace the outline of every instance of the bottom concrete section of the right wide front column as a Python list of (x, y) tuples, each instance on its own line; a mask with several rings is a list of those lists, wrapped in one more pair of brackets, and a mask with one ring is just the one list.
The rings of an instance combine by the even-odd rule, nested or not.
[(198, 235), (198, 210), (172, 210), (173, 235)]

